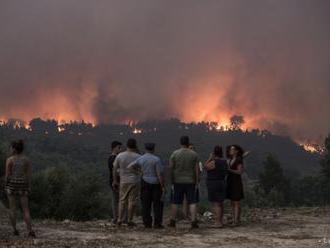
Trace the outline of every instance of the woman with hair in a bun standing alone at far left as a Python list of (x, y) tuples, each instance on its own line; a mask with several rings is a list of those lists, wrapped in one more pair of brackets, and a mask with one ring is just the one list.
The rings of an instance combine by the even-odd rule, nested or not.
[(22, 140), (11, 143), (11, 156), (6, 161), (5, 191), (9, 202), (9, 217), (13, 227), (13, 234), (19, 235), (16, 228), (16, 198), (18, 197), (24, 214), (24, 221), (28, 230), (28, 236), (35, 238), (32, 230), (29, 208), (29, 193), (31, 191), (31, 163), (23, 154), (24, 142)]

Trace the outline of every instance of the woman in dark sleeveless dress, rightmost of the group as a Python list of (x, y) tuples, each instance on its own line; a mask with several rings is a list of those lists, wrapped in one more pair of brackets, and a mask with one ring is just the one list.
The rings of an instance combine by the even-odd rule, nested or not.
[(231, 200), (233, 208), (233, 224), (235, 226), (241, 221), (240, 201), (244, 198), (242, 172), (244, 151), (238, 145), (230, 146), (228, 149), (228, 177), (227, 198)]

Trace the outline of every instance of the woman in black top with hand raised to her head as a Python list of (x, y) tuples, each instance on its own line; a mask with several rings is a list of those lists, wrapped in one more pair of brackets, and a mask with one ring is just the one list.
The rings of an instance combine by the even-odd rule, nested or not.
[(225, 178), (227, 161), (223, 159), (222, 148), (214, 147), (214, 151), (205, 163), (207, 171), (208, 199), (213, 205), (215, 226), (223, 227), (223, 201), (226, 197)]

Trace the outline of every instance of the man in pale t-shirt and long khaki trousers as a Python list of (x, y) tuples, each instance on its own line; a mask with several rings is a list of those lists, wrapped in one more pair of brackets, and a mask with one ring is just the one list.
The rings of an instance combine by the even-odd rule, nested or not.
[[(113, 187), (119, 186), (118, 226), (124, 222), (126, 206), (128, 226), (135, 226), (133, 217), (140, 196), (140, 175), (127, 167), (140, 157), (140, 155), (136, 153), (136, 150), (136, 140), (128, 139), (127, 150), (118, 154), (113, 162)], [(118, 176), (120, 177), (120, 182)]]

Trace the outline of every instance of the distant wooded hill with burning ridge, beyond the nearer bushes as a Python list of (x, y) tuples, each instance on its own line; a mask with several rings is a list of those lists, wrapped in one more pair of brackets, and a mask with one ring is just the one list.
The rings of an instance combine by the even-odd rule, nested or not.
[(246, 159), (250, 178), (258, 175), (268, 153), (278, 157), (286, 174), (291, 177), (314, 174), (319, 170), (320, 155), (306, 151), (289, 137), (261, 130), (224, 130), (214, 123), (183, 123), (171, 119), (134, 125), (93, 126), (76, 122), (59, 125), (54, 120), (34, 119), (28, 125), (19, 120), (0, 125), (0, 142), (6, 145), (13, 139), (24, 139), (37, 170), (60, 165), (77, 169), (92, 166), (106, 173), (111, 141), (125, 143), (128, 137), (138, 140), (142, 152), (144, 142), (157, 143), (157, 153), (167, 163), (171, 152), (179, 147), (182, 135), (191, 137), (202, 161), (208, 158), (217, 144), (223, 147), (239, 144), (252, 151)]

